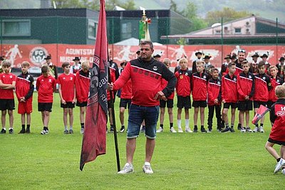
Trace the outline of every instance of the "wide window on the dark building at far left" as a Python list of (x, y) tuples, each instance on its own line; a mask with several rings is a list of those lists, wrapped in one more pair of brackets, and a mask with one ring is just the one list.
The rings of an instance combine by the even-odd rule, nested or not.
[(3, 36), (31, 36), (30, 20), (3, 20)]

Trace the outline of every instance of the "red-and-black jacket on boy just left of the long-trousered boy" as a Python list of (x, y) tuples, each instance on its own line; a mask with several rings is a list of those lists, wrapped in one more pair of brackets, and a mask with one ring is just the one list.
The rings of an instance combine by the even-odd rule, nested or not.
[(207, 100), (207, 80), (207, 73), (193, 73), (191, 81), (193, 100)]

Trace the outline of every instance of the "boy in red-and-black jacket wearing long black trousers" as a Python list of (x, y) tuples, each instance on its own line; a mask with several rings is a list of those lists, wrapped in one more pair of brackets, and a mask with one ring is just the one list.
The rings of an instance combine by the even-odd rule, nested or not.
[(222, 82), (219, 80), (219, 70), (212, 68), (212, 78), (209, 79), (207, 85), (208, 92), (208, 132), (212, 132), (212, 120), (214, 117), (214, 110), (216, 110), (217, 118), (217, 130), (221, 132), (222, 118), (221, 118), (221, 85)]

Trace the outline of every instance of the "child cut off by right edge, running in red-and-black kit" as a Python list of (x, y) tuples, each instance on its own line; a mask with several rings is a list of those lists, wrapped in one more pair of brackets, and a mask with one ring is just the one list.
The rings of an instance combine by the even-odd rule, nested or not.
[[(277, 86), (275, 94), (278, 100), (271, 106), (270, 110), (270, 121), (274, 125), (271, 128), (265, 148), (277, 161), (274, 173), (283, 167), (282, 173), (285, 174), (285, 86)], [(280, 156), (273, 148), (274, 144), (281, 145)]]

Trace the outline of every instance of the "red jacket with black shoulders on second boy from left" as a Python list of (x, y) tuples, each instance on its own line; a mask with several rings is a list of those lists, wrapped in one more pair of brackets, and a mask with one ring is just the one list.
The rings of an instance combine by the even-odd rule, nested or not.
[(20, 100), (20, 97), (25, 97), (25, 100), (28, 100), (28, 98), (33, 98), (33, 76), (29, 73), (21, 73), (21, 75), (18, 75), (16, 79), (16, 96), (18, 100)]

